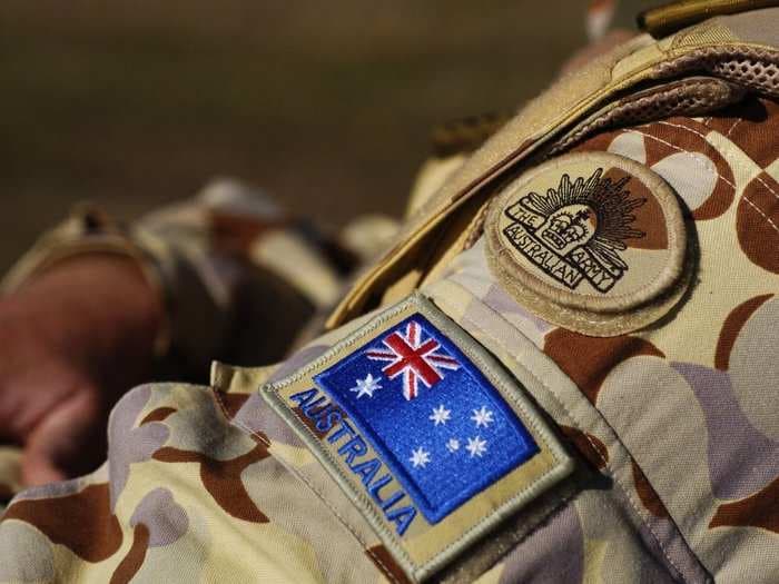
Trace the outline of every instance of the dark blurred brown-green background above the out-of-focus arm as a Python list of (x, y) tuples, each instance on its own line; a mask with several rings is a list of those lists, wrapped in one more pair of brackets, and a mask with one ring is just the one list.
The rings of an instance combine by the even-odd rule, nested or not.
[(400, 214), (432, 127), (538, 93), (584, 6), (2, 0), (0, 268), (78, 200), (132, 218), (215, 175)]

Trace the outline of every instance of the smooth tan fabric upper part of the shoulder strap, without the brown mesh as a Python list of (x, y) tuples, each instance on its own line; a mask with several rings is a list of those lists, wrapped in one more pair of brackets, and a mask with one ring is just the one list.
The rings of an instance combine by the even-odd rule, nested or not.
[(594, 108), (639, 83), (697, 71), (702, 59), (711, 59), (703, 55), (707, 49), (722, 49), (731, 58), (740, 50), (758, 49), (766, 51), (772, 62), (779, 61), (775, 50), (779, 46), (777, 30), (779, 9), (763, 10), (759, 19), (753, 14), (720, 17), (659, 41), (648, 34), (637, 37), (565, 76), (476, 150), (407, 221), (395, 244), (354, 284), (327, 326), (336, 327), (378, 306), (381, 290), (404, 275), (416, 270), (418, 274), (407, 278), (406, 286), (411, 290), (418, 285), (424, 277), (420, 264), (430, 261), (430, 249), (454, 214), (462, 208), (479, 209), (473, 201), (486, 199), (495, 179), (510, 170), (522, 170), (530, 166), (529, 160), (542, 159), (543, 146)]

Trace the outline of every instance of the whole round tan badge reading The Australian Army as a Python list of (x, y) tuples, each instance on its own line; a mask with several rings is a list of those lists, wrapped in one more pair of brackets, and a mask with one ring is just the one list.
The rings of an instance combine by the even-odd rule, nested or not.
[(676, 195), (621, 156), (568, 155), (522, 175), (491, 204), (485, 232), (490, 267), (516, 300), (573, 330), (634, 330), (683, 293)]

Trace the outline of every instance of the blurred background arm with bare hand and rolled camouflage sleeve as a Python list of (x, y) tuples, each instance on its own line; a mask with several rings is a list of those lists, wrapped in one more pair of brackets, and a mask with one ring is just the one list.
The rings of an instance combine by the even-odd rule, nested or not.
[[(378, 238), (393, 229), (368, 222)], [(0, 334), (12, 339), (0, 360), (0, 441), (23, 448), (18, 479), (91, 469), (110, 408), (139, 383), (203, 379), (213, 358), (282, 358), (372, 253), (358, 239), (347, 250), (229, 180), (130, 227), (73, 212), (16, 265), (0, 299)]]

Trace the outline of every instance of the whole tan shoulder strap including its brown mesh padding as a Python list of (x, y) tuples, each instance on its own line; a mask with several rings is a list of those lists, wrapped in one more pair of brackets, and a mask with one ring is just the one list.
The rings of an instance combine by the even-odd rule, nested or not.
[[(779, 95), (779, 8), (718, 16), (655, 40), (639, 36), (563, 76), (502, 125), (427, 198), (365, 270), (328, 325), (408, 294), (473, 238), (511, 177), (595, 132), (670, 116), (704, 116), (746, 93)], [(387, 296), (387, 290), (391, 295)]]

